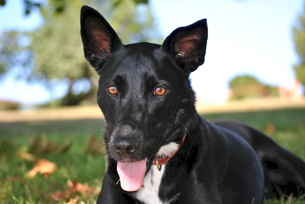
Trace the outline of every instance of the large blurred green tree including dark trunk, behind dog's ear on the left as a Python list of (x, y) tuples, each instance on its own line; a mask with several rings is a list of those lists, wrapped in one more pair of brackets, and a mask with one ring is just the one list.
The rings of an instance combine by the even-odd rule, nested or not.
[[(137, 5), (135, 0), (90, 0), (85, 3), (102, 13), (123, 43), (160, 42), (148, 5)], [(47, 4), (39, 5), (44, 24), (32, 33), (23, 34), (31, 39), (30, 45), (22, 49), (11, 46), (10, 57), (0, 61), (2, 67), (12, 67), (7, 62), (18, 55), (17, 50), (30, 50), (33, 59), (30, 77), (46, 82), (65, 80), (68, 84), (69, 91), (61, 100), (62, 105), (77, 105), (86, 98), (95, 97), (98, 75), (84, 59), (80, 36), (79, 16), (83, 4), (81, 0), (49, 0)], [(82, 93), (73, 91), (75, 85), (84, 82), (88, 84), (87, 89)]]

